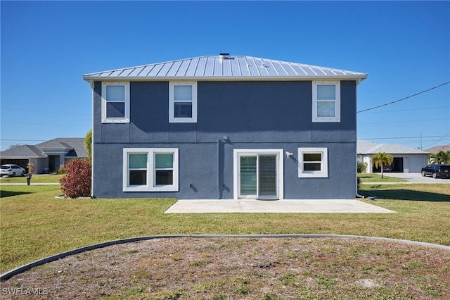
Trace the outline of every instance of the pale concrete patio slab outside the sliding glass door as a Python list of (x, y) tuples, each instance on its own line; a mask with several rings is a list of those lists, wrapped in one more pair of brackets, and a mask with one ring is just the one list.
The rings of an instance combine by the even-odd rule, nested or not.
[(179, 200), (165, 213), (394, 213), (354, 199)]

